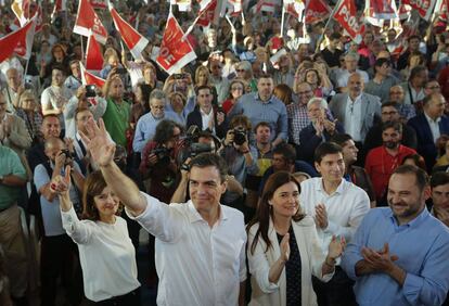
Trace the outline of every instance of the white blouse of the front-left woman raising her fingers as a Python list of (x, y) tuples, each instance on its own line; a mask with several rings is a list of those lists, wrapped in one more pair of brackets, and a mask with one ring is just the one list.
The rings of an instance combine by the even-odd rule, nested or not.
[(140, 286), (136, 251), (126, 220), (115, 224), (78, 220), (74, 207), (62, 212), (62, 225), (78, 244), (86, 297), (100, 302), (127, 294)]

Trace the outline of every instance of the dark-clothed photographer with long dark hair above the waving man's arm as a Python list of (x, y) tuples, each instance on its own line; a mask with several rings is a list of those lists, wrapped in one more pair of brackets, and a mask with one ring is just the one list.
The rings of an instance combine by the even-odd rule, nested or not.
[(153, 140), (142, 151), (139, 171), (143, 179), (151, 177), (149, 194), (169, 203), (176, 189), (178, 165), (176, 156), (180, 144), (182, 126), (172, 120), (162, 120)]

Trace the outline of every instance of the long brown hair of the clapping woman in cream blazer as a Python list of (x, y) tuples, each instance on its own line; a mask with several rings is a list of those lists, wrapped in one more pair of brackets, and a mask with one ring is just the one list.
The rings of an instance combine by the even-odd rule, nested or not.
[[(268, 201), (270, 201), (273, 197), (274, 192), (280, 187), (288, 182), (294, 182), (298, 187), (298, 191), (300, 192), (299, 182), (295, 179), (295, 177), (292, 174), (287, 171), (274, 173), (268, 178), (267, 183), (265, 184), (265, 188), (264, 188), (264, 192), (260, 196), (256, 216), (246, 227), (246, 230), (249, 231), (249, 229), (255, 224), (259, 224), (259, 228), (257, 229), (253, 243), (251, 244), (252, 254), (254, 254), (254, 251), (256, 250), (259, 235), (261, 235), (262, 240), (267, 244), (266, 252), (268, 252), (268, 248), (271, 247), (272, 242), (268, 238), (268, 228), (270, 226), (270, 218), (272, 218), (273, 212), (270, 208), (271, 206), (268, 204)], [(297, 222), (302, 220), (304, 217), (305, 217), (305, 214), (299, 208), (296, 215), (293, 216), (293, 220)]]

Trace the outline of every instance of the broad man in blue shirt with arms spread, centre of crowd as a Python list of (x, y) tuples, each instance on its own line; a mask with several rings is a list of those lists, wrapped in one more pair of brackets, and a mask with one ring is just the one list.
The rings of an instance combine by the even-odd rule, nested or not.
[(288, 140), (288, 124), (285, 104), (273, 95), (273, 78), (262, 75), (257, 82), (257, 92), (242, 95), (232, 107), (229, 119), (243, 114), (249, 118), (255, 127), (260, 122), (271, 126), (272, 146)]

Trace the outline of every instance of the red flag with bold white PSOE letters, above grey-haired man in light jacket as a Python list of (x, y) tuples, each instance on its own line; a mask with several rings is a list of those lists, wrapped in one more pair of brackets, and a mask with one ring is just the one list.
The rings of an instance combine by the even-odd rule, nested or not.
[(339, 1), (339, 5), (335, 8), (334, 18), (339, 22), (354, 41), (360, 43), (361, 23), (356, 14), (357, 7), (354, 0), (342, 0)]

